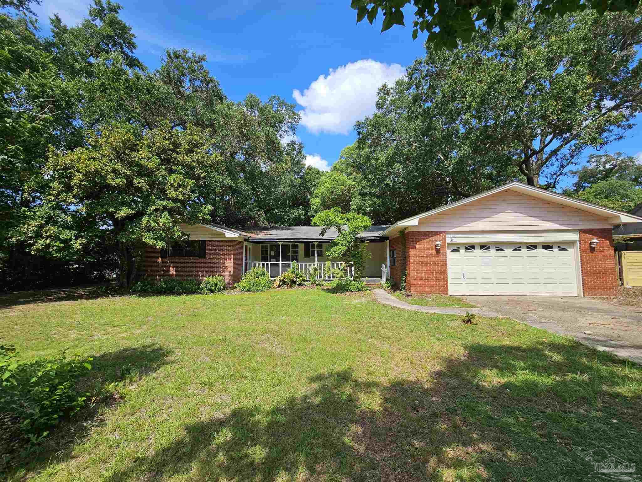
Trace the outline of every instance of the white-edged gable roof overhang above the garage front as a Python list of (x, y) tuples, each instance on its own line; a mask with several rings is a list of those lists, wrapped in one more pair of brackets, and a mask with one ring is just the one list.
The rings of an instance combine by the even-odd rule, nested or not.
[(383, 231), (381, 235), (389, 236), (390, 233), (400, 231), (406, 226), (417, 226), (417, 224), (419, 224), (419, 220), (421, 219), (433, 216), (438, 213), (442, 213), (458, 206), (464, 206), (464, 204), (468, 204), (469, 202), (477, 201), (478, 199), (482, 199), (483, 197), (487, 197), (505, 190), (512, 190), (529, 196), (537, 197), (539, 199), (544, 199), (544, 201), (555, 202), (557, 204), (569, 206), (569, 208), (575, 208), (578, 210), (586, 211), (588, 213), (592, 213), (596, 216), (605, 217), (607, 219), (607, 222), (611, 224), (627, 224), (630, 222), (642, 221), (642, 217), (638, 217), (630, 213), (612, 210), (609, 208), (605, 208), (604, 206), (598, 206), (598, 204), (593, 204), (592, 202), (582, 201), (580, 199), (568, 197), (560, 193), (547, 191), (546, 189), (529, 186), (528, 184), (520, 183), (519, 181), (513, 181), (512, 183), (504, 184), (503, 186), (499, 186), (498, 188), (491, 189), (481, 194), (467, 197), (466, 199), (462, 199), (461, 201), (451, 202), (450, 204), (446, 204), (446, 206), (441, 206), (440, 208), (426, 211), (425, 213), (421, 213), (406, 219), (402, 219), (401, 221), (397, 221), (395, 222), (395, 224), (390, 226), (390, 228)]

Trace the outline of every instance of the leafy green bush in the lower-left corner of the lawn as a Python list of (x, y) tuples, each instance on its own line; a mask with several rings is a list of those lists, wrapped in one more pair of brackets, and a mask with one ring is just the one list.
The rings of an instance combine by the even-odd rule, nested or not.
[(74, 415), (89, 393), (78, 393), (76, 381), (91, 370), (91, 358), (80, 355), (21, 361), (13, 345), (0, 345), (0, 457), (26, 456), (64, 417)]

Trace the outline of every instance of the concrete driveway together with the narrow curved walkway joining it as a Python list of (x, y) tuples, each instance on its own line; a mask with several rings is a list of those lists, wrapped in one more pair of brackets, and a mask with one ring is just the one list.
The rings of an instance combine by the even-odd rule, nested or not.
[[(634, 314), (632, 312), (633, 308), (630, 307), (616, 307), (590, 298), (560, 299), (558, 301), (550, 296), (466, 297), (467, 301), (475, 305), (490, 305), (497, 311), (491, 311), (485, 308), (420, 307), (401, 301), (401, 299), (395, 298), (383, 289), (374, 289), (372, 292), (379, 303), (403, 308), (404, 310), (444, 315), (464, 315), (469, 311), (485, 317), (512, 318), (520, 323), (534, 326), (535, 328), (542, 328), (558, 335), (572, 337), (576, 341), (596, 348), (596, 350), (600, 350), (601, 352), (609, 352), (618, 357), (642, 364), (642, 346), (636, 343), (635, 335), (632, 336), (629, 334), (629, 336), (624, 339), (613, 339), (617, 337), (613, 334), (608, 334), (610, 336), (606, 337), (606, 333), (598, 330), (601, 324), (594, 323), (594, 321), (596, 321), (596, 312), (602, 310), (603, 313), (600, 313), (602, 317), (608, 317), (609, 321), (617, 319), (616, 322), (611, 321), (614, 325), (619, 326), (626, 323), (626, 325), (623, 326), (630, 328), (633, 333), (638, 333), (640, 331), (639, 319), (642, 319), (642, 317), (637, 313)], [(544, 309), (544, 305), (553, 305), (553, 302), (557, 302), (557, 306), (553, 309)], [(526, 307), (525, 303), (528, 304), (528, 307)], [(575, 305), (581, 305), (582, 311), (578, 312), (578, 307), (575, 307)], [(537, 312), (537, 314), (532, 312)], [(598, 321), (602, 321), (602, 319), (598, 319)], [(584, 326), (579, 325), (581, 322), (584, 322), (582, 323)], [(591, 328), (591, 330), (587, 328)]]

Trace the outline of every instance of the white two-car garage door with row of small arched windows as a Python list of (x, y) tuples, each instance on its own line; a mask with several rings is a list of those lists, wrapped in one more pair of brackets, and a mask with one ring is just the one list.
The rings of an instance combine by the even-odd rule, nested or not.
[(577, 296), (573, 243), (448, 243), (450, 294)]

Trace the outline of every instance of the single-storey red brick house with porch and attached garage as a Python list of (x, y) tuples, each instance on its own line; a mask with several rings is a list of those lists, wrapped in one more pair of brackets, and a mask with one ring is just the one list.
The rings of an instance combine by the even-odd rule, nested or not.
[[(400, 283), (405, 272), (406, 289), (417, 294), (608, 296), (618, 286), (612, 228), (634, 222), (642, 217), (513, 182), (372, 226), (361, 234), (371, 254), (365, 274), (379, 277), (385, 265)], [(325, 256), (336, 232), (322, 237), (315, 226), (181, 229), (187, 244), (146, 249), (144, 275), (221, 274), (231, 286), (254, 266), (277, 276), (293, 261), (306, 271), (337, 262)]]

